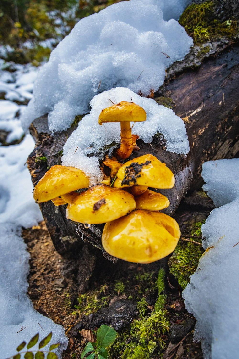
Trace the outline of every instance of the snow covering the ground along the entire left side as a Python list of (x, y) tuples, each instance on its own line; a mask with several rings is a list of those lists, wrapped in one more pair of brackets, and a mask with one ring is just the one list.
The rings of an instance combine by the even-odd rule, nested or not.
[[(0, 130), (10, 132), (7, 142), (11, 142), (24, 133), (15, 116), (25, 106), (13, 100), (25, 102), (31, 97), (37, 70), (30, 65), (7, 65), (15, 71), (0, 70), (0, 92), (5, 93), (5, 98), (11, 97), (11, 101), (0, 100)], [(23, 340), (28, 342), (37, 332), (40, 340), (53, 332), (50, 344), (61, 342), (56, 350), (58, 355), (66, 349), (68, 341), (64, 328), (35, 311), (27, 295), (29, 253), (21, 238), (21, 226), (28, 228), (42, 221), (39, 206), (33, 200), (26, 164), (34, 146), (29, 134), (19, 144), (0, 146), (0, 359), (15, 355), (16, 347)]]

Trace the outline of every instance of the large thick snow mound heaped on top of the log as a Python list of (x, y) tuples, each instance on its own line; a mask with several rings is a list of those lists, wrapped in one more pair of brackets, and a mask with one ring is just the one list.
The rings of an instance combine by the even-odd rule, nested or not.
[(49, 129), (66, 130), (76, 115), (89, 112), (94, 95), (112, 87), (145, 95), (157, 90), (165, 69), (183, 59), (193, 45), (172, 19), (187, 3), (123, 1), (81, 19), (40, 69), (22, 116), (24, 129), (49, 113)]

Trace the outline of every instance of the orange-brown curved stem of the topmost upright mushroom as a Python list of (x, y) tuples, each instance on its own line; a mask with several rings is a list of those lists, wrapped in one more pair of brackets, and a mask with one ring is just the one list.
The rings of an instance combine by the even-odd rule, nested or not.
[(133, 152), (133, 139), (130, 122), (120, 122), (121, 144), (117, 150), (117, 156), (120, 159), (128, 158)]

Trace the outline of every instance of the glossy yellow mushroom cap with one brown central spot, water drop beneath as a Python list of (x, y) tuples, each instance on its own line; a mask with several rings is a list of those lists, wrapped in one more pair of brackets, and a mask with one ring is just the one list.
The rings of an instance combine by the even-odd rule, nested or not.
[(80, 223), (100, 224), (125, 216), (135, 209), (128, 192), (99, 184), (89, 188), (67, 206), (67, 218)]

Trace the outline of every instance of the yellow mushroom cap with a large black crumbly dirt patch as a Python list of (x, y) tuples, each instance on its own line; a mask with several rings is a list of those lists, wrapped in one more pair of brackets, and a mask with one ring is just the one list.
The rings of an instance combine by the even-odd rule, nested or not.
[(129, 186), (172, 188), (175, 184), (172, 171), (151, 154), (127, 161), (120, 167), (117, 177), (123, 185)]

